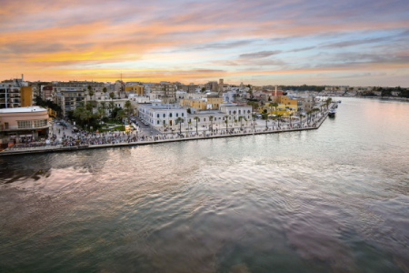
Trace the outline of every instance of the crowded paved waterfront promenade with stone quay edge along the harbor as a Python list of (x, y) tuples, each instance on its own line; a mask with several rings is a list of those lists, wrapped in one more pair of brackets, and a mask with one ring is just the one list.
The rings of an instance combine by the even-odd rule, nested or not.
[[(333, 108), (334, 105), (331, 106)], [(88, 141), (84, 143), (79, 143), (75, 145), (44, 145), (39, 147), (10, 147), (0, 152), (0, 157), (15, 156), (15, 155), (27, 155), (27, 154), (37, 154), (37, 153), (53, 153), (53, 152), (68, 152), (68, 151), (78, 151), (84, 149), (95, 149), (95, 148), (107, 148), (107, 147), (136, 147), (143, 145), (153, 145), (169, 142), (178, 141), (188, 141), (188, 140), (199, 140), (199, 139), (209, 139), (209, 138), (224, 138), (224, 137), (234, 137), (234, 136), (253, 136), (253, 135), (263, 135), (263, 134), (278, 134), (285, 132), (296, 132), (296, 131), (307, 131), (318, 129), (328, 116), (328, 111), (320, 114), (316, 119), (312, 119), (312, 122), (307, 125), (295, 124), (289, 126), (284, 124), (283, 126), (273, 126), (264, 129), (260, 128), (246, 128), (243, 131), (238, 130), (218, 130), (217, 133), (205, 132), (198, 134), (178, 134), (172, 136), (144, 136), (144, 137), (131, 137), (128, 135), (123, 135), (127, 138), (122, 138), (120, 134), (115, 137), (108, 136), (110, 138), (109, 143), (98, 143), (98, 138), (89, 138)]]

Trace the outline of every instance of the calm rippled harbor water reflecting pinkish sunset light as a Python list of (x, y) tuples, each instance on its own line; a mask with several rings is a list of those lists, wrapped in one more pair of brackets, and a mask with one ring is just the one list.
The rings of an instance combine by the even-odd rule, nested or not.
[(0, 157), (1, 272), (409, 272), (409, 104), (320, 129)]

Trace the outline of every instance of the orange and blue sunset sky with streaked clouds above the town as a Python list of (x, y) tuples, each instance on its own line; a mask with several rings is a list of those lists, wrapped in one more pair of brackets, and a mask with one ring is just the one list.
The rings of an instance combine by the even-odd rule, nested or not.
[(409, 86), (409, 1), (0, 0), (0, 79)]

